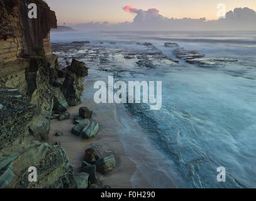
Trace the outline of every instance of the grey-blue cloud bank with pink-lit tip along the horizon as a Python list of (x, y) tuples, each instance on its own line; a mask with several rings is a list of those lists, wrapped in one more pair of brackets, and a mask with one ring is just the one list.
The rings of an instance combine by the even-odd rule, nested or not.
[(206, 18), (166, 18), (156, 8), (147, 11), (125, 6), (123, 10), (128, 13), (136, 13), (132, 22), (111, 24), (84, 23), (75, 24), (78, 30), (131, 30), (131, 31), (237, 31), (256, 30), (256, 12), (250, 8), (236, 8), (226, 13), (226, 18), (206, 21)]

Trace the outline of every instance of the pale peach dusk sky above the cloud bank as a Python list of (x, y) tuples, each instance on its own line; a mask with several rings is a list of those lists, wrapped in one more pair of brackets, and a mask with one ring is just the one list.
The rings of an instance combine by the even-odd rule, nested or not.
[(58, 24), (133, 21), (136, 13), (126, 12), (125, 6), (147, 11), (159, 10), (167, 18), (217, 18), (217, 5), (226, 5), (226, 12), (248, 7), (256, 10), (256, 0), (45, 0), (55, 11)]

